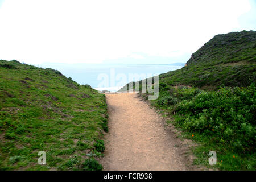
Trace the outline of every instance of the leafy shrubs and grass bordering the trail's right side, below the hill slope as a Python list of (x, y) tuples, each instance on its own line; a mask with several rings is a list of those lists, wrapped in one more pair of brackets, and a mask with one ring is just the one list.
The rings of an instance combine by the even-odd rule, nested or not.
[(209, 166), (205, 162), (207, 154), (214, 150), (219, 169), (255, 169), (254, 83), (247, 88), (224, 87), (216, 91), (178, 86), (161, 91), (152, 104), (175, 113), (175, 126), (188, 138), (201, 142), (195, 149), (195, 163)]

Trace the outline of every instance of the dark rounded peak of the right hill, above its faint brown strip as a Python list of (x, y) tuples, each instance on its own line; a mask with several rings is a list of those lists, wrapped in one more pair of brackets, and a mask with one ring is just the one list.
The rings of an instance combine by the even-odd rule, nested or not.
[(236, 63), (255, 61), (256, 32), (231, 32), (214, 36), (203, 47), (192, 54), (187, 65), (196, 63)]

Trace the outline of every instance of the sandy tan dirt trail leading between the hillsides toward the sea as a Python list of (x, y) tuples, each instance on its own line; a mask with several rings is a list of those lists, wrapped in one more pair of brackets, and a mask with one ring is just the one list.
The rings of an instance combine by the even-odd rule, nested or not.
[(106, 94), (109, 132), (105, 135), (105, 170), (187, 170), (180, 140), (138, 94)]

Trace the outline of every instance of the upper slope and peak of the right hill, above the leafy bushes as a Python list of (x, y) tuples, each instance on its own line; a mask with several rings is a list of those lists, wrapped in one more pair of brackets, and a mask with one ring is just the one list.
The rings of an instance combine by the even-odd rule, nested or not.
[(181, 69), (160, 74), (159, 82), (208, 90), (249, 86), (255, 82), (256, 75), (256, 32), (216, 35), (193, 53), (186, 64)]

